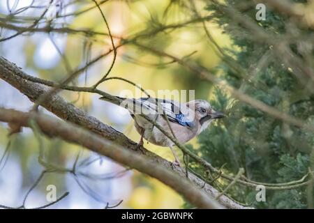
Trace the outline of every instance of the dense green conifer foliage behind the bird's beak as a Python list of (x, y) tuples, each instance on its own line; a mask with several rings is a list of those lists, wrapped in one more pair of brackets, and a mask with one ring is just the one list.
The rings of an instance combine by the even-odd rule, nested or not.
[[(241, 1), (242, 5), (246, 5), (244, 2), (249, 4), (249, 1)], [(225, 3), (237, 8), (239, 1), (227, 0)], [(219, 7), (210, 4), (207, 10), (214, 13), (217, 23), (230, 35), (234, 46), (239, 49), (225, 49), (225, 52), (248, 71), (241, 74), (244, 78), (239, 78), (235, 70), (222, 62), (222, 78), (252, 98), (313, 123), (313, 95), (306, 92), (292, 71), (274, 56), (269, 45), (252, 38), (248, 30), (233, 22)], [(244, 10), (243, 14), (255, 21), (255, 12), (255, 6), (252, 6)], [(288, 20), (289, 18), (267, 9), (267, 20), (255, 22), (265, 31), (284, 34), (287, 32)], [(300, 31), (308, 32), (306, 29)], [(298, 54), (299, 49), (294, 46), (292, 44), (291, 49)], [(263, 56), (266, 58), (266, 65), (255, 70)], [(246, 177), (259, 182), (286, 183), (299, 180), (308, 173), (308, 167), (311, 166), (310, 154), (314, 148), (311, 132), (278, 121), (244, 102), (234, 102), (224, 89), (216, 89), (214, 95), (216, 98), (211, 102), (213, 107), (227, 110), (228, 117), (213, 123), (208, 130), (200, 134), (200, 148), (195, 150), (205, 160), (215, 167), (223, 167), (227, 174), (235, 175), (240, 167), (244, 167)], [(191, 167), (205, 174), (204, 169), (193, 162)], [(230, 182), (220, 180), (215, 183), (225, 187)], [(237, 201), (252, 203), (256, 208), (308, 206), (306, 187), (294, 190), (267, 190), (266, 202), (255, 201), (254, 187), (237, 184), (227, 194)]]

